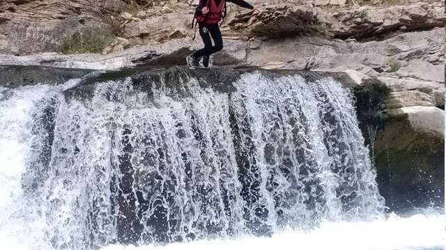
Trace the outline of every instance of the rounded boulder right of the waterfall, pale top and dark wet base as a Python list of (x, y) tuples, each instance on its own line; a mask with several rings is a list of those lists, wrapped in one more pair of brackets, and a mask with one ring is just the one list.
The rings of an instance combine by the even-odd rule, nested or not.
[(392, 110), (374, 144), (380, 194), (390, 210), (443, 208), (445, 111), (435, 107)]

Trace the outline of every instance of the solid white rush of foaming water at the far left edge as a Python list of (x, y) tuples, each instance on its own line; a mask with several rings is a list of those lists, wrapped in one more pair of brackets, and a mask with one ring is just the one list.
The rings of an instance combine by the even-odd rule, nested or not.
[(0, 242), (1, 249), (40, 249), (45, 225), (22, 216), (22, 174), (32, 138), (30, 123), (36, 101), (45, 97), (47, 86), (12, 90), (0, 103)]

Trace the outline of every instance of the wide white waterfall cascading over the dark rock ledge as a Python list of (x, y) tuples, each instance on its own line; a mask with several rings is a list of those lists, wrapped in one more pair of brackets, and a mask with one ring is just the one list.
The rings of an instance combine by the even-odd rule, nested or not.
[(0, 87), (0, 240), (97, 249), (383, 217), (341, 83), (172, 70)]

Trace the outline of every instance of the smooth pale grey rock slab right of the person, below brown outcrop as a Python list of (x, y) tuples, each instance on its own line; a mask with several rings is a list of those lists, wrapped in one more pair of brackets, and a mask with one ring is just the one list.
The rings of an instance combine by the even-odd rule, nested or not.
[[(389, 40), (362, 43), (300, 37), (265, 40), (262, 41), (262, 49), (249, 51), (247, 63), (264, 65), (270, 61), (280, 61), (288, 63), (288, 67), (293, 69), (324, 71), (354, 69), (369, 76), (378, 76), (383, 75), (380, 72), (390, 68), (390, 62), (394, 58), (410, 51), (420, 50), (420, 56), (414, 55), (412, 60), (424, 60), (423, 55), (429, 51), (435, 51), (438, 56), (442, 56), (443, 52), (437, 50), (443, 47), (443, 34), (443, 29), (437, 28), (432, 31), (405, 33)], [(429, 38), (429, 41), (425, 38)], [(401, 61), (404, 67), (410, 62), (411, 60)], [(442, 70), (440, 67), (436, 69), (440, 72)]]

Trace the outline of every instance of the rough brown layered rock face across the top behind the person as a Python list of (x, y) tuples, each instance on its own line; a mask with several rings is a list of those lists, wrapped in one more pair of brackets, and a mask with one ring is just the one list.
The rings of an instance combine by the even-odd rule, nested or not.
[[(340, 4), (342, 1), (330, 4)], [(311, 1), (256, 1), (256, 10), (230, 8), (222, 26), (226, 38), (286, 38), (319, 35), (325, 38), (384, 39), (386, 35), (442, 27), (443, 2), (375, 8), (314, 7)], [(24, 55), (57, 51), (74, 33), (109, 34), (129, 40), (130, 47), (153, 45), (192, 36), (192, 8), (186, 3), (154, 6), (147, 11), (119, 11), (121, 0), (50, 1), (7, 0), (0, 7), (0, 53)], [(175, 11), (173, 11), (173, 8)], [(111, 42), (110, 42), (111, 43)], [(190, 44), (190, 42), (188, 42)], [(111, 52), (111, 51), (109, 51)], [(407, 55), (411, 56), (411, 55)], [(429, 60), (436, 60), (431, 57)]]

